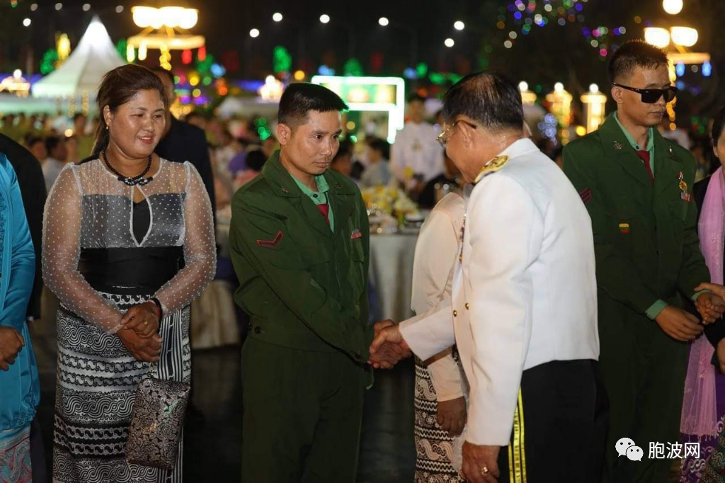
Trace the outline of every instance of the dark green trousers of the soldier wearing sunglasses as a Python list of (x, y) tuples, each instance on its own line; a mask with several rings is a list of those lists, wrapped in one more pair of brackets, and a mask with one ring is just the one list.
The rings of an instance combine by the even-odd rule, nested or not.
[[(680, 441), (687, 344), (668, 337), (654, 321), (600, 317), (599, 330), (610, 405), (603, 481), (667, 482), (672, 460), (649, 458), (649, 449), (650, 443), (668, 447)], [(615, 445), (624, 437), (642, 448), (642, 461), (618, 455)]]

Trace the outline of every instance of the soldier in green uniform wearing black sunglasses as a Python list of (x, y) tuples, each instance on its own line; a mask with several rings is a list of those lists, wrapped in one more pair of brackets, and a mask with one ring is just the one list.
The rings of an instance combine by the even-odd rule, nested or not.
[[(618, 110), (566, 146), (564, 172), (594, 230), (600, 369), (610, 402), (605, 481), (660, 483), (672, 459), (650, 458), (650, 443), (680, 440), (687, 343), (703, 332), (681, 296), (708, 322), (724, 307), (716, 295), (695, 292), (710, 278), (697, 238), (695, 160), (655, 128), (676, 95), (666, 54), (630, 41), (609, 71)], [(642, 461), (626, 457), (622, 438), (642, 447)]]

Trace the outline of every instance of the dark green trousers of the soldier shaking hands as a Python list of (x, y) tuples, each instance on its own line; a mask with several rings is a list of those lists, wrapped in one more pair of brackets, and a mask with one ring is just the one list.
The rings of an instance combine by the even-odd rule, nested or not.
[(242, 482), (355, 482), (365, 368), (249, 337), (241, 377)]

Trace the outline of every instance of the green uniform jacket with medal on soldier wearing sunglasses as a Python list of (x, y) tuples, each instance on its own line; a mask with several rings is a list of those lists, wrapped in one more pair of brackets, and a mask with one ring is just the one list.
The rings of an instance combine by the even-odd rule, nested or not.
[(564, 149), (564, 172), (592, 217), (600, 324), (607, 315), (647, 322), (655, 302), (691, 298), (710, 280), (697, 237), (695, 160), (653, 136), (654, 183), (614, 115)]

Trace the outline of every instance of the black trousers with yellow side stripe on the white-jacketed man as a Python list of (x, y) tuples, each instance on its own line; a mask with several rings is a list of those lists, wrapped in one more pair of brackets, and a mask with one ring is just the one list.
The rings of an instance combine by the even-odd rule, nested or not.
[(594, 360), (556, 360), (523, 371), (499, 483), (600, 481), (607, 404)]

